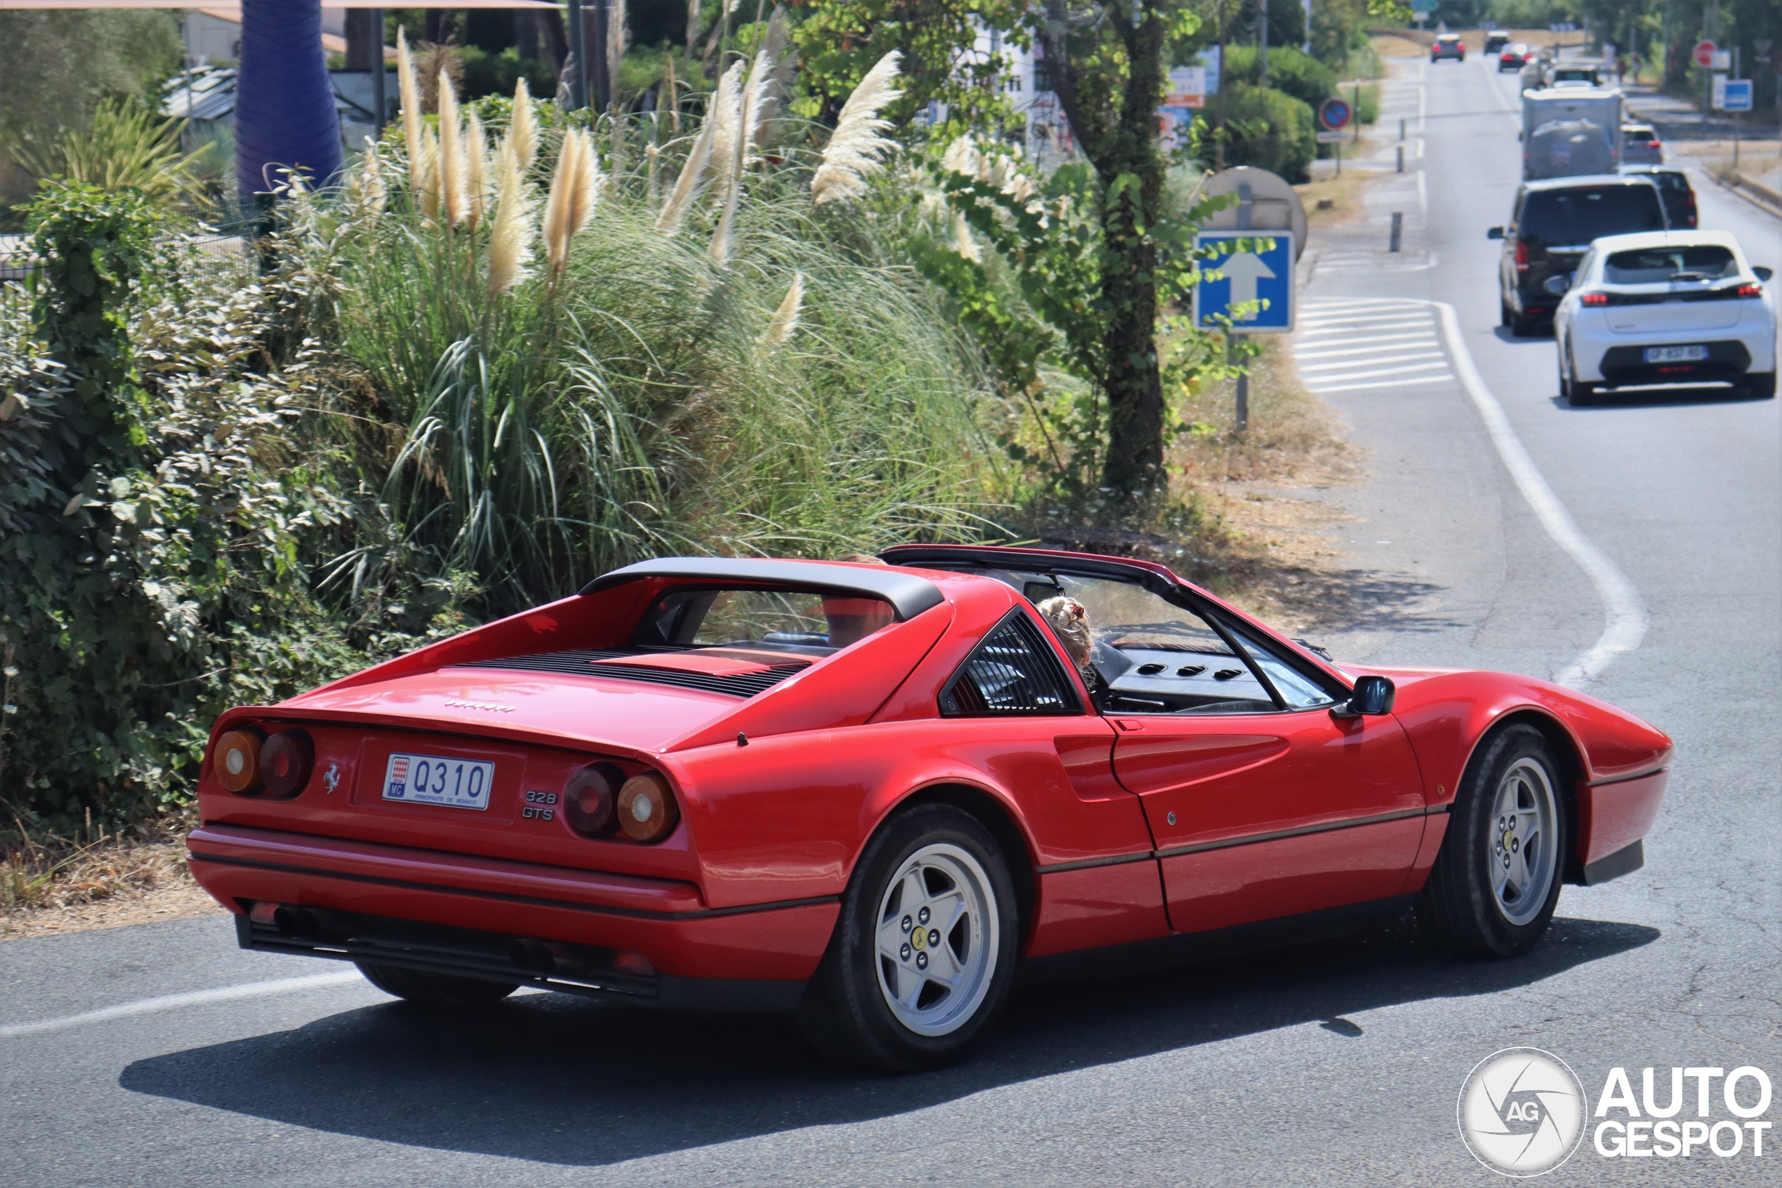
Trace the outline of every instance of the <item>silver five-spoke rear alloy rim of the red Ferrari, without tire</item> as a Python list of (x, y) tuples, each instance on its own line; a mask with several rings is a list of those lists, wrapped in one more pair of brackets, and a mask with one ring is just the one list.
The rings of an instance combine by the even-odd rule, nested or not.
[(996, 969), (996, 892), (966, 850), (923, 846), (879, 901), (879, 990), (916, 1035), (962, 1028)]

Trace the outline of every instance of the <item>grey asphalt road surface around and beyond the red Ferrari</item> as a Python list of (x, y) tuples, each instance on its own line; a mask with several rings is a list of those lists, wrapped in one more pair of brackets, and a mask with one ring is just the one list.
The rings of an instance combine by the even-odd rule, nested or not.
[[(1515, 962), (1442, 960), (1392, 926), (1028, 990), (962, 1067), (889, 1079), (825, 1067), (777, 1021), (556, 996), (442, 1021), (314, 980), (331, 965), (241, 953), (223, 919), (16, 940), (0, 946), (0, 1183), (1490, 1184), (1454, 1104), (1495, 1049), (1561, 1056), (1593, 1103), (1611, 1067), (1636, 1092), (1657, 1067), (1661, 1099), (1672, 1065), (1782, 1079), (1777, 403), (1559, 403), (1552, 342), (1495, 328), (1484, 228), (1515, 192), (1509, 77), (1468, 61), (1420, 78), (1386, 96), (1411, 121), (1411, 173), (1306, 262), (1297, 351), (1344, 358), (1328, 344), (1345, 337), (1379, 349), (1376, 370), (1410, 369), (1394, 383), (1418, 379), (1310, 372), (1377, 474), (1320, 495), (1354, 517), (1342, 533), (1367, 606), (1328, 643), (1549, 677), (1597, 648), (1611, 611), (1643, 625), (1590, 686), (1677, 739), (1643, 871), (1568, 887), (1550, 937)], [(1406, 214), (1397, 258), (1381, 251), (1390, 210)], [(1777, 221), (1711, 185), (1702, 212), (1782, 265)], [(1383, 299), (1399, 305), (1356, 305)], [(1625, 579), (1618, 611), (1511, 479), (1440, 306), (1420, 303), (1454, 308), (1572, 543)], [(1399, 324), (1367, 321), (1381, 308), (1408, 337), (1363, 344), (1390, 335), (1358, 326)], [(1586, 1140), (1547, 1183), (1775, 1183), (1771, 1158), (1606, 1160)]]

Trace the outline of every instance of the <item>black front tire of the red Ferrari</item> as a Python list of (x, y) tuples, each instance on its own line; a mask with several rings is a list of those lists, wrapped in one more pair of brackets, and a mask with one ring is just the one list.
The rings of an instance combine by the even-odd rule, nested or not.
[[(1549, 823), (1540, 830), (1538, 841), (1547, 875), (1545, 889), (1531, 880), (1515, 899), (1520, 905), (1515, 912), (1520, 919), (1515, 919), (1493, 889), (1492, 873), (1493, 862), (1504, 855), (1500, 842), (1506, 837), (1518, 839), (1500, 828), (1493, 812), (1497, 793), (1511, 773), (1527, 775), (1524, 764), (1533, 764), (1547, 780)], [(1426, 937), (1463, 956), (1515, 956), (1541, 939), (1559, 905), (1559, 885), (1572, 844), (1563, 789), (1565, 768), (1534, 727), (1513, 725), (1481, 745), (1454, 796), (1435, 869), (1417, 894), (1417, 921)], [(1547, 837), (1547, 832), (1552, 835)], [(1525, 866), (1533, 846), (1520, 853)]]

